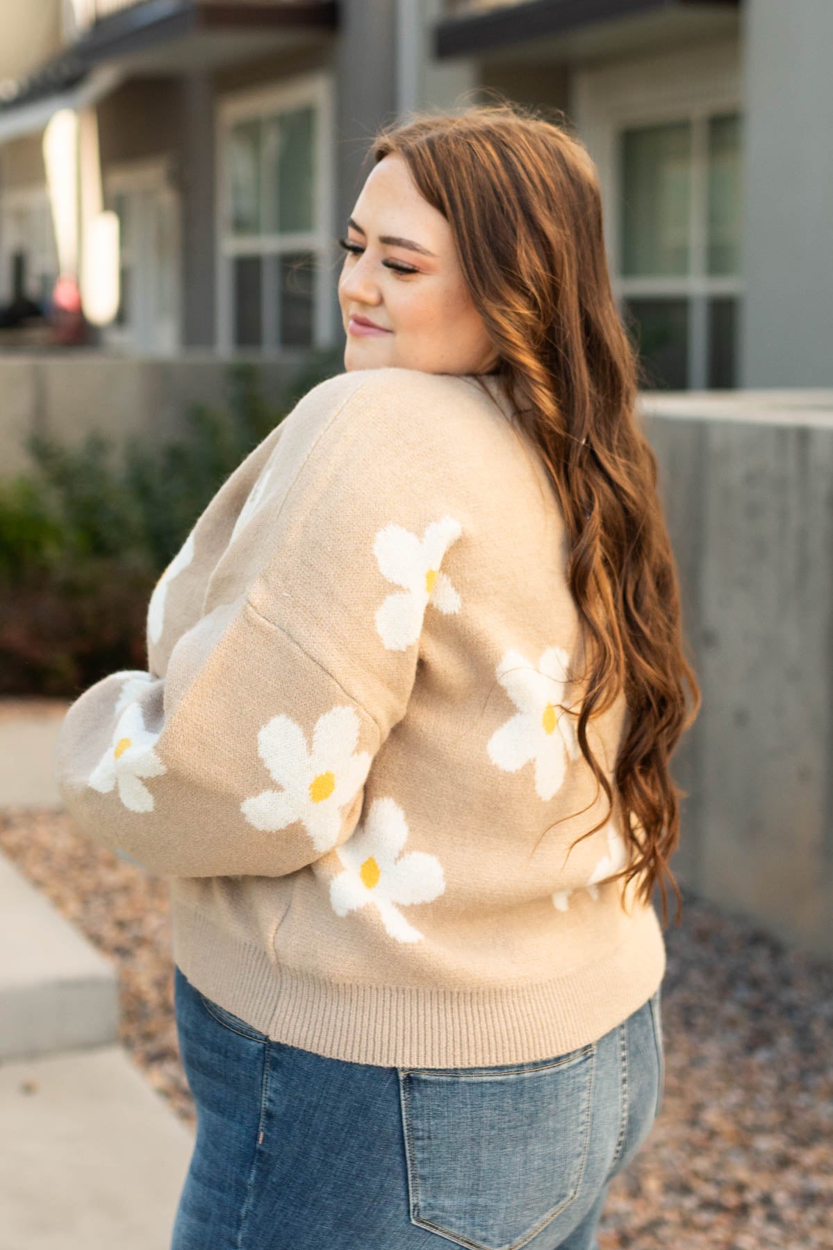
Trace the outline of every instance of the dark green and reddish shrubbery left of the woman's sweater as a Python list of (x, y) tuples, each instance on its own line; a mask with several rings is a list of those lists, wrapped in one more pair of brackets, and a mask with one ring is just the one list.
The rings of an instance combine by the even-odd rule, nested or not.
[(225, 410), (193, 405), (186, 434), (133, 436), (119, 459), (31, 436), (31, 474), (0, 481), (0, 694), (76, 698), (116, 669), (146, 666), (148, 600), (225, 479), (311, 386), (340, 371), (319, 352), (275, 405), (258, 370), (229, 370)]

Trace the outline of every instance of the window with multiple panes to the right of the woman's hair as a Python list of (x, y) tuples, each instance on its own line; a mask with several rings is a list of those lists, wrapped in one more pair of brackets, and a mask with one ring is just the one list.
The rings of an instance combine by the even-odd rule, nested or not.
[(643, 385), (737, 385), (740, 118), (697, 112), (618, 131), (622, 314)]

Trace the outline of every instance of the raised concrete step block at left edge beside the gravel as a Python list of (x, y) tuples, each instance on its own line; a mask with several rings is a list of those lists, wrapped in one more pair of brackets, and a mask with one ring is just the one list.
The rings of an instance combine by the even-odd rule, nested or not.
[(0, 854), (0, 1060), (118, 1036), (115, 968)]

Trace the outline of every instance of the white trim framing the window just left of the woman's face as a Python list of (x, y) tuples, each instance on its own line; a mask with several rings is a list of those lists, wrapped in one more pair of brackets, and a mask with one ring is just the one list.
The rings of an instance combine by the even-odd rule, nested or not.
[[(239, 121), (250, 121), (305, 104), (311, 104), (318, 114), (315, 229), (285, 235), (258, 235), (256, 239), (235, 239), (231, 231), (231, 195), (226, 168), (228, 136), (231, 126)], [(331, 238), (331, 222), (335, 212), (333, 108), (331, 75), (321, 71), (299, 75), (286, 82), (226, 95), (216, 104), (216, 345), (223, 355), (230, 355), (235, 350), (231, 332), (231, 266), (235, 256), (245, 255), (279, 255), (284, 251), (303, 250), (318, 252), (320, 262), (315, 275), (313, 342), (315, 346), (333, 346), (335, 341), (331, 292), (331, 274), (335, 262), (335, 248)], [(265, 290), (266, 284), (264, 284), (264, 292)], [(269, 312), (264, 309), (261, 324), (265, 329), (269, 326)], [(264, 346), (260, 349), (260, 354), (280, 355), (284, 350), (289, 349), (274, 345)]]

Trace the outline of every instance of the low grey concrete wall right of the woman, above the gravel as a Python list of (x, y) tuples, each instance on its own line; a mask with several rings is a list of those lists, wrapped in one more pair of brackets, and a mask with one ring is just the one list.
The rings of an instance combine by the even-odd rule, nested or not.
[(830, 956), (833, 392), (775, 401), (643, 396), (703, 694), (672, 868)]

